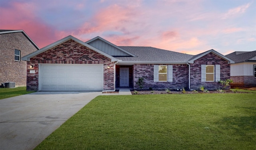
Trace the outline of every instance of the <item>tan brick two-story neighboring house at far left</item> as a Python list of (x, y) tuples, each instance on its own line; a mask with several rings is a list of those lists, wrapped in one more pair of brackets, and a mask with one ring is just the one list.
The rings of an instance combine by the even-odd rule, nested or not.
[(38, 49), (23, 30), (0, 30), (0, 84), (26, 86), (27, 64), (21, 58)]

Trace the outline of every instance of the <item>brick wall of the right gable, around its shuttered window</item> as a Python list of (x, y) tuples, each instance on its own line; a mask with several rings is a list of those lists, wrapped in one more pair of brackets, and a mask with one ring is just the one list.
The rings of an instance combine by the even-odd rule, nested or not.
[[(203, 85), (206, 90), (216, 90), (217, 88), (222, 88), (223, 86), (218, 82), (201, 82), (201, 64), (220, 65), (220, 80), (230, 79), (230, 64), (228, 61), (222, 59), (221, 57), (209, 53), (202, 56), (198, 60), (195, 60), (193, 64), (190, 64), (190, 88), (199, 89), (199, 86)], [(215, 67), (214, 67), (215, 68)], [(214, 74), (214, 78), (215, 78)], [(230, 87), (228, 87), (230, 88)]]

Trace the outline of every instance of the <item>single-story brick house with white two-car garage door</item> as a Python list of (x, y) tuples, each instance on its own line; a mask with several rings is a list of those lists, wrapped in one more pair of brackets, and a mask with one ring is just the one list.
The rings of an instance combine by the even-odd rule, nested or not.
[[(138, 89), (220, 88), (230, 78), (233, 60), (209, 50), (188, 55), (153, 47), (116, 46), (101, 37), (87, 42), (68, 36), (26, 55), (27, 90), (108, 91)], [(30, 66), (32, 68), (30, 68)]]

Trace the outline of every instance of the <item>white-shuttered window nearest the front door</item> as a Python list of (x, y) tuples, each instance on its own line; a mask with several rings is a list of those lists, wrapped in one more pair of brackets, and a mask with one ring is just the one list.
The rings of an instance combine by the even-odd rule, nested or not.
[(154, 82), (172, 82), (172, 65), (154, 65)]

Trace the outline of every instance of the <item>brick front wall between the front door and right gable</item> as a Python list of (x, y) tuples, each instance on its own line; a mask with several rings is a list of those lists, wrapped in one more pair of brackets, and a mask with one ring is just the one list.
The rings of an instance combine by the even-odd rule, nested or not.
[[(158, 64), (168, 65), (168, 64)], [(144, 78), (144, 88), (152, 89), (182, 89), (188, 88), (188, 65), (187, 64), (172, 64), (173, 65), (173, 82), (154, 82), (154, 64), (134, 64), (133, 70), (133, 85), (134, 89), (140, 89), (136, 84), (138, 78)]]

